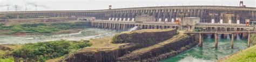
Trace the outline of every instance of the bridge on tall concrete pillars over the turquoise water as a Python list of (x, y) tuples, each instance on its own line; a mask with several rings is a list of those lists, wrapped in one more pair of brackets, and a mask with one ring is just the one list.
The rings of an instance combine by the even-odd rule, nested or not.
[(214, 34), (214, 38), (215, 38), (215, 48), (218, 48), (218, 36), (217, 34), (231, 34), (231, 48), (233, 49), (233, 44), (234, 44), (234, 34), (248, 34), (248, 39), (247, 39), (247, 47), (250, 47), (250, 35), (251, 34), (255, 34), (256, 32), (185, 32), (184, 34), (198, 34), (199, 35), (199, 46), (202, 47), (203, 46), (203, 34)]

